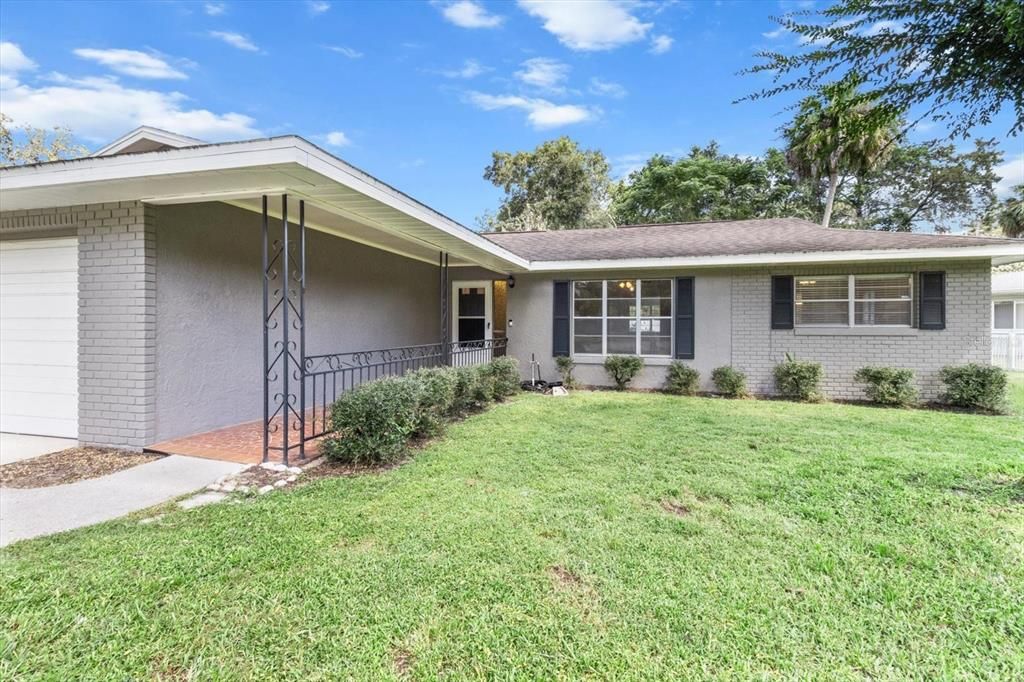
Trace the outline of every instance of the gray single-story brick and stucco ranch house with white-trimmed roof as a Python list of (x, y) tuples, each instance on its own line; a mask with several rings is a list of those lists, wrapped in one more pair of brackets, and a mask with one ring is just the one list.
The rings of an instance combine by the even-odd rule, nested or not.
[(300, 137), (140, 128), (0, 170), (0, 430), (141, 449), (262, 418), (272, 444), (352, 383), (501, 352), (590, 384), (639, 353), (644, 387), (732, 365), (759, 393), (793, 352), (833, 397), (868, 364), (934, 397), (989, 361), (990, 268), (1021, 260), (797, 219), (480, 235)]

